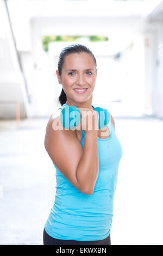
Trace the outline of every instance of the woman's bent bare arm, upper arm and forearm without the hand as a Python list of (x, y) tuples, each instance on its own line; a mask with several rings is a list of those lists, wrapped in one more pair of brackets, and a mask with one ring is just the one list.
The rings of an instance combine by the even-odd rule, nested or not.
[(98, 176), (97, 130), (85, 133), (84, 149), (76, 132), (53, 130), (50, 118), (46, 127), (45, 148), (65, 178), (84, 194), (92, 194)]

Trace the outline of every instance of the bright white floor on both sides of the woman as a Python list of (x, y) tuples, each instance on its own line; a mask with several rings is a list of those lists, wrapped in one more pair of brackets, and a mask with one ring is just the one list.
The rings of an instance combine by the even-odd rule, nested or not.
[[(0, 244), (42, 244), (55, 169), (44, 148), (48, 118), (0, 121)], [(163, 244), (163, 121), (116, 118), (118, 169), (112, 245)]]

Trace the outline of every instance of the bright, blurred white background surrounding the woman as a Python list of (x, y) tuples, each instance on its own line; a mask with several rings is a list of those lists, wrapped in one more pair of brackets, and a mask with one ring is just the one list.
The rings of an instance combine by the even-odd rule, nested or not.
[(162, 245), (162, 0), (0, 0), (0, 244), (42, 244), (56, 189), (46, 125), (59, 54), (75, 42), (95, 54), (92, 105), (112, 114), (123, 149), (111, 244)]

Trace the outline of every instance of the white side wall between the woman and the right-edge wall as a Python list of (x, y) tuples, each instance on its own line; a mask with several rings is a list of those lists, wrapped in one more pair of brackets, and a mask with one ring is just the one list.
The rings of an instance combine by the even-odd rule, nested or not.
[(139, 35), (121, 52), (122, 102), (130, 113), (145, 113), (145, 58), (143, 36)]

